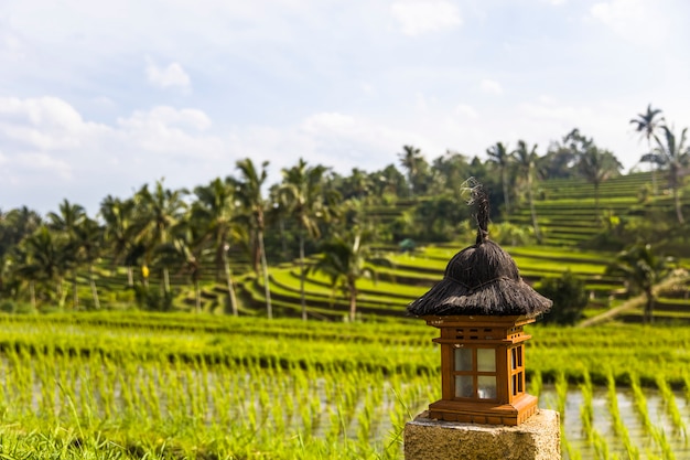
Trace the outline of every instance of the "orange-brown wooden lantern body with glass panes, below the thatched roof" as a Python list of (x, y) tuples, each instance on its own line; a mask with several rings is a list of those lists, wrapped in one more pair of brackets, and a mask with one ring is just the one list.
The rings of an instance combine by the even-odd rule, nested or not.
[[(441, 347), (442, 389), (441, 399), (429, 405), (431, 418), (516, 426), (537, 411), (537, 397), (527, 394), (525, 386), (525, 342), (531, 335), (522, 330), (535, 322), (533, 318), (424, 319), (440, 330), (440, 338), (433, 342)], [(493, 363), (488, 350), (494, 351)]]

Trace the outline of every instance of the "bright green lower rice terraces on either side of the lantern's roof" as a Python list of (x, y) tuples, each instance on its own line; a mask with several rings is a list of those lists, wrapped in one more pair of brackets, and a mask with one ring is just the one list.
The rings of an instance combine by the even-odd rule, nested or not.
[[(423, 295), (431, 286), (443, 278), (443, 271), (453, 255), (462, 249), (460, 244), (430, 245), (413, 254), (385, 254), (387, 264), (373, 263), (375, 277), (363, 278), (357, 282), (359, 291), (357, 310), (363, 318), (397, 317), (405, 314), (406, 306)], [(584, 280), (590, 292), (591, 314), (601, 312), (602, 308), (611, 307), (612, 302), (621, 302), (625, 292), (624, 279), (607, 275), (606, 266), (615, 257), (613, 253), (591, 252), (564, 247), (518, 246), (504, 247), (515, 259), (522, 278), (536, 284), (545, 277), (558, 277), (565, 270)], [(680, 265), (689, 268), (687, 260)], [(257, 308), (265, 301), (261, 279), (246, 284), (247, 293)], [(271, 298), (281, 315), (298, 315), (300, 304), (300, 272), (292, 265), (271, 269)], [(333, 289), (328, 279), (320, 274), (309, 272), (305, 278), (305, 298), (308, 312), (314, 318), (343, 318), (348, 303), (342, 290)], [(690, 299), (688, 290), (661, 292), (656, 318), (666, 322), (690, 322)], [(599, 310), (597, 310), (599, 309)], [(621, 319), (639, 322), (642, 310), (630, 310)]]

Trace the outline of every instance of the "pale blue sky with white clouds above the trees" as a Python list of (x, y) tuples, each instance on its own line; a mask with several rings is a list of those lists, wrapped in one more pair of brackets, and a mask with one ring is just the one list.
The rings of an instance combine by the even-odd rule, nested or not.
[(0, 210), (690, 126), (686, 0), (0, 0)]

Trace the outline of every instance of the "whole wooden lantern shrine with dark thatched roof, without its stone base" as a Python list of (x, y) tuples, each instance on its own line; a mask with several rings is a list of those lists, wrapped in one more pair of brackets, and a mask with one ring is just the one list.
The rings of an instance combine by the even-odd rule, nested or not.
[(488, 196), (473, 189), (477, 238), (448, 264), (443, 279), (408, 306), (438, 328), (441, 399), (430, 418), (489, 425), (519, 425), (537, 410), (525, 388), (522, 327), (552, 302), (519, 276), (515, 260), (488, 239)]

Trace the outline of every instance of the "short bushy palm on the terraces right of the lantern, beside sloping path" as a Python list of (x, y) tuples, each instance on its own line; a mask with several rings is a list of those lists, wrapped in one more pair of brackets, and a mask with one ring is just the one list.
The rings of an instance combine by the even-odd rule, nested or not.
[(653, 321), (656, 297), (654, 286), (670, 274), (669, 259), (657, 257), (649, 244), (637, 244), (621, 252), (606, 268), (611, 275), (622, 275), (628, 289), (643, 291), (646, 298), (644, 321)]

